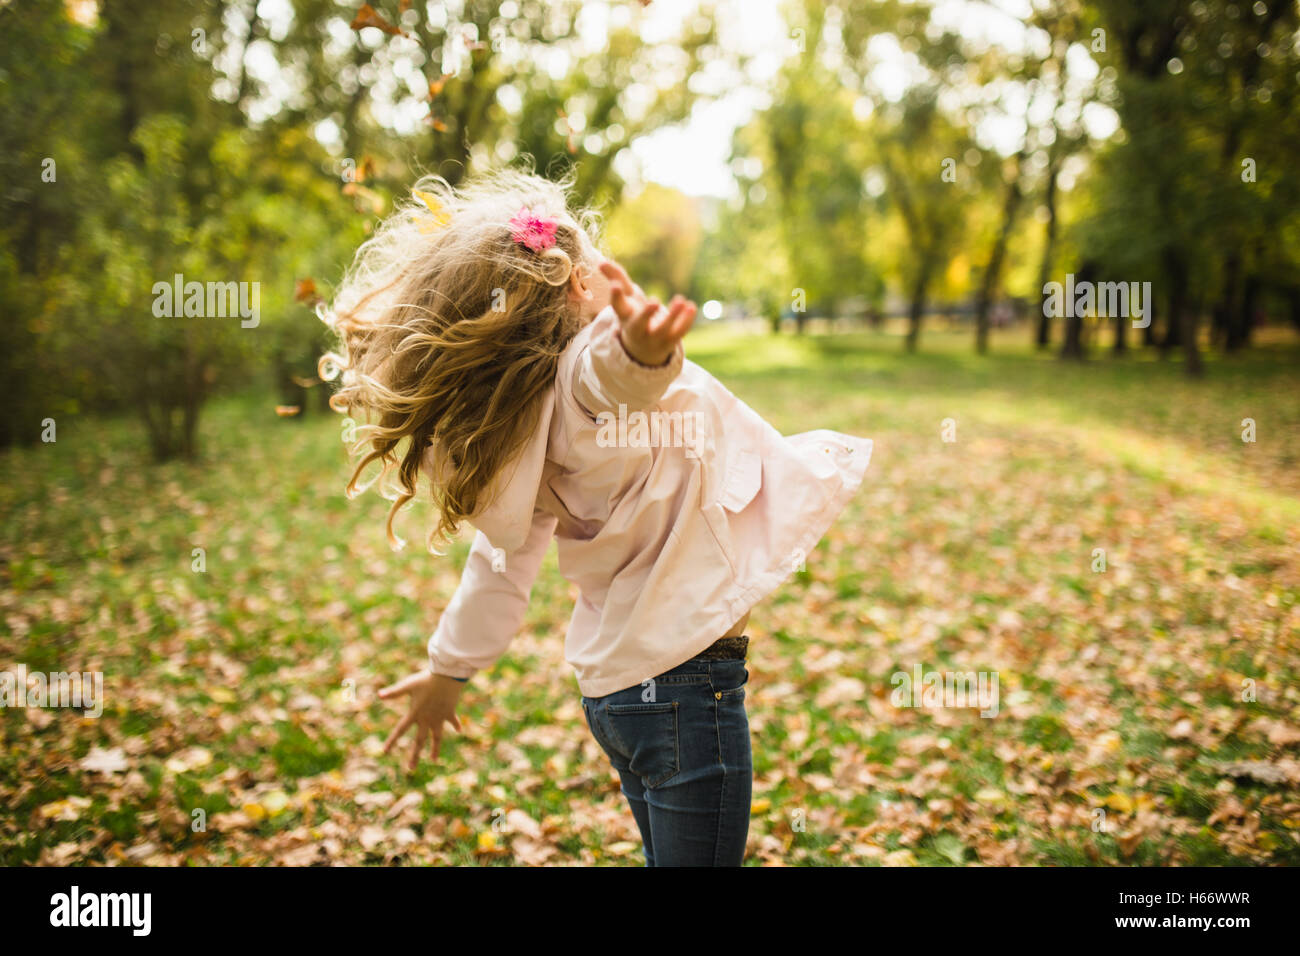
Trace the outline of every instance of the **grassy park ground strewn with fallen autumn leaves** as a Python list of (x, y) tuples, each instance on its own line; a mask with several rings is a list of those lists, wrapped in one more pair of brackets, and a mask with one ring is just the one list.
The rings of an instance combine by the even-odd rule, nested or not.
[[(1300, 349), (1200, 384), (924, 350), (688, 339), (783, 432), (875, 440), (751, 619), (750, 862), (1300, 862)], [(464, 736), (407, 775), (374, 689), (422, 661), (468, 538), (426, 554), (417, 507), (391, 553), (387, 502), (342, 497), (337, 416), (234, 398), (203, 433), (199, 466), (118, 420), (0, 457), (0, 669), (105, 682), (98, 719), (0, 711), (0, 862), (641, 862), (554, 551)], [(893, 706), (916, 666), (996, 672), (997, 715)]]

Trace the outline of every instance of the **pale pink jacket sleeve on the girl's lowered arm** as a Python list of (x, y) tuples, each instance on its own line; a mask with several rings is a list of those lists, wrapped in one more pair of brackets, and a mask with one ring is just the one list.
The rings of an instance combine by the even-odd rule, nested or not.
[(460, 585), (429, 637), (434, 674), (471, 678), (506, 653), (524, 622), (554, 533), (555, 516), (541, 510), (533, 512), (528, 536), (514, 551), (494, 551), (482, 531), (474, 533)]

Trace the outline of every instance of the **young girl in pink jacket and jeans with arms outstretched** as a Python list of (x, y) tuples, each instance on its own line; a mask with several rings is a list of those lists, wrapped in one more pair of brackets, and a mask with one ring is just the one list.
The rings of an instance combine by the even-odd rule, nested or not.
[[(358, 252), (321, 359), (337, 411), (364, 410), (348, 483), (378, 462), (393, 518), (428, 481), (446, 541), (476, 535), (410, 696), (437, 760), (464, 682), (508, 646), (554, 537), (580, 591), (564, 656), (621, 778), (647, 866), (738, 866), (753, 765), (750, 609), (862, 483), (871, 442), (783, 437), (681, 339), (696, 306), (647, 298), (597, 251), (563, 185), (502, 172), (459, 190), (421, 179)], [(400, 546), (398, 544), (398, 546)]]

